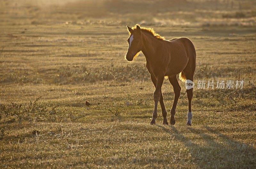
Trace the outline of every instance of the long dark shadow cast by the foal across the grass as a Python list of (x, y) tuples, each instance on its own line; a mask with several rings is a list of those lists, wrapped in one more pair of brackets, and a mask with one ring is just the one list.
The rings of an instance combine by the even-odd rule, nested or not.
[(188, 126), (187, 129), (198, 137), (194, 139), (183, 135), (175, 126), (156, 126), (173, 135), (174, 142), (182, 142), (191, 154), (191, 162), (199, 168), (256, 167), (256, 150), (253, 145), (236, 141), (208, 125), (202, 126), (206, 131)]

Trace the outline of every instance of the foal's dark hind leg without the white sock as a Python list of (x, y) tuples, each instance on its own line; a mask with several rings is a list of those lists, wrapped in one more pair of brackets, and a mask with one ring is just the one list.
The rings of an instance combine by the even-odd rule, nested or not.
[(176, 113), (176, 107), (177, 107), (177, 103), (180, 97), (180, 85), (179, 82), (177, 81), (176, 75), (174, 76), (168, 76), (168, 79), (170, 81), (170, 83), (172, 84), (173, 87), (173, 91), (174, 91), (174, 100), (173, 100), (173, 104), (172, 104), (172, 109), (171, 109), (171, 120), (170, 123), (172, 125), (175, 124), (175, 113)]

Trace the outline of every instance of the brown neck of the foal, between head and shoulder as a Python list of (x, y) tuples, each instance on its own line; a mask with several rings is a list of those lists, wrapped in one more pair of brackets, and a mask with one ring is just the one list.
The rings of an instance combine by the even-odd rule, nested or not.
[(143, 47), (142, 53), (145, 55), (147, 61), (154, 60), (157, 55), (157, 50), (161, 46), (161, 41), (156, 39), (154, 36), (147, 33), (142, 33)]

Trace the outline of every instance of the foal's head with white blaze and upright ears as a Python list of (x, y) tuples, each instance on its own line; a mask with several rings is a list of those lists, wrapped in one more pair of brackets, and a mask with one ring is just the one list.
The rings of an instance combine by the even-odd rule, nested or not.
[(132, 29), (128, 25), (127, 29), (130, 32), (130, 37), (127, 39), (129, 43), (128, 51), (126, 53), (126, 60), (132, 61), (134, 56), (136, 56), (142, 48), (142, 34), (140, 26), (136, 25), (136, 28)]

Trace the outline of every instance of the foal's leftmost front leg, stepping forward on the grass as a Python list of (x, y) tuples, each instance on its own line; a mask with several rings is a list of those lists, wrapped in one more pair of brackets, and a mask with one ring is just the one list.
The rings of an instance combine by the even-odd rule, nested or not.
[(157, 118), (157, 105), (161, 97), (161, 87), (164, 81), (164, 76), (156, 77), (156, 90), (154, 92), (154, 102), (155, 102), (155, 108), (152, 115), (152, 120), (150, 124), (156, 124), (156, 118)]

